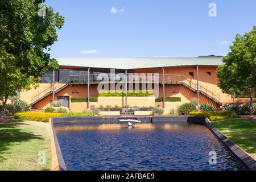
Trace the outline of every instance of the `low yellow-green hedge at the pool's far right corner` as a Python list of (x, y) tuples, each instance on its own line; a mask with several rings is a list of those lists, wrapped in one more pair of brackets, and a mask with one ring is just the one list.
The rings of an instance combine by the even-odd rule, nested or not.
[(205, 112), (193, 111), (193, 112), (190, 112), (189, 115), (206, 116), (209, 118), (210, 121), (220, 121), (223, 119), (235, 118), (237, 116), (236, 113), (233, 111), (205, 111)]

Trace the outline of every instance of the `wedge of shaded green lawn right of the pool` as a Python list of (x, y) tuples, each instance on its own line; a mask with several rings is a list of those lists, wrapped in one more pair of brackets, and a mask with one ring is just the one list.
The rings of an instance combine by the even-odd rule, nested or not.
[(256, 122), (238, 118), (214, 121), (212, 125), (256, 160)]

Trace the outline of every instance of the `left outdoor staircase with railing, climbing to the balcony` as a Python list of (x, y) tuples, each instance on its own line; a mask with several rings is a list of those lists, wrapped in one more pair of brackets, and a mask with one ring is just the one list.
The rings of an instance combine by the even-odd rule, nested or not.
[[(55, 93), (58, 93), (61, 90), (63, 90), (64, 88), (66, 88), (67, 86), (68, 86), (68, 84), (65, 84), (65, 83), (55, 83), (54, 91), (55, 91)], [(34, 95), (32, 95), (31, 96), (31, 105), (35, 105), (37, 102), (43, 100), (44, 98), (46, 98), (47, 96), (52, 94), (52, 90), (53, 90), (53, 84), (50, 84), (43, 90), (40, 90), (38, 93), (35, 93)]]

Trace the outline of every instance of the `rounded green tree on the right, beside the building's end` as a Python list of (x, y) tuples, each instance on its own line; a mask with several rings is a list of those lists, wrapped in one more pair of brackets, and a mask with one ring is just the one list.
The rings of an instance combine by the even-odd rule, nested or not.
[(250, 115), (256, 92), (256, 26), (244, 35), (236, 35), (231, 52), (217, 69), (220, 88), (225, 93), (245, 92), (250, 96)]

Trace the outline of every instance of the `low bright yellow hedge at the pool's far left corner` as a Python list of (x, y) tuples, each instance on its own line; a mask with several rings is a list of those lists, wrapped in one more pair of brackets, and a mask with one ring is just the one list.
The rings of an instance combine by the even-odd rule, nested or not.
[(28, 121), (39, 121), (39, 122), (49, 122), (49, 118), (51, 117), (62, 117), (63, 113), (43, 113), (43, 112), (20, 112), (14, 115), (15, 119), (23, 119)]

